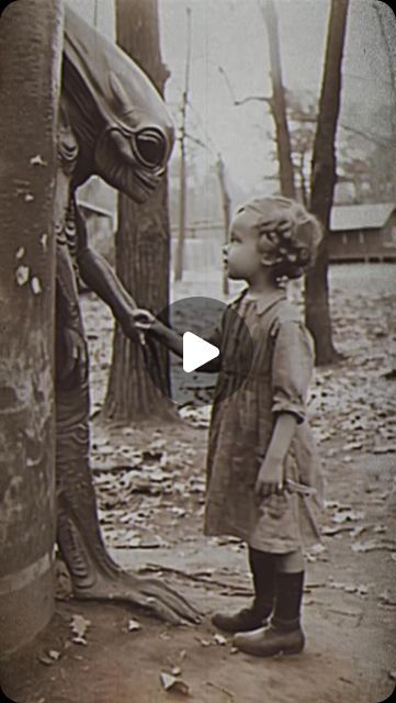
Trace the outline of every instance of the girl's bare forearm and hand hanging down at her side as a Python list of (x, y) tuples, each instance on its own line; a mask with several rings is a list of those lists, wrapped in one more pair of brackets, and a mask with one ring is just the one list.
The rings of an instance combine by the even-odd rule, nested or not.
[(256, 493), (265, 498), (272, 493), (280, 493), (283, 489), (284, 460), (293, 439), (297, 417), (292, 413), (280, 413), (276, 417), (270, 445), (261, 464), (256, 481)]

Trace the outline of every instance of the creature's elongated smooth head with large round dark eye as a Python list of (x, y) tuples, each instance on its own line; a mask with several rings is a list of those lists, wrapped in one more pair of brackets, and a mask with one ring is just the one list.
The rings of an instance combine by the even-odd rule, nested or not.
[(169, 160), (172, 120), (140, 68), (68, 5), (63, 99), (80, 148), (77, 185), (98, 174), (144, 202)]

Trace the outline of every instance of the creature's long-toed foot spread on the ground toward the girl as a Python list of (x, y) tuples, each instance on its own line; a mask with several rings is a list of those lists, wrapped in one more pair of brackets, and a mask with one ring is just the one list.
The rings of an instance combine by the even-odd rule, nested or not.
[(73, 594), (79, 600), (133, 603), (177, 625), (201, 622), (199, 611), (161, 581), (128, 573), (116, 567), (112, 576), (98, 574), (94, 582), (86, 588), (73, 585)]

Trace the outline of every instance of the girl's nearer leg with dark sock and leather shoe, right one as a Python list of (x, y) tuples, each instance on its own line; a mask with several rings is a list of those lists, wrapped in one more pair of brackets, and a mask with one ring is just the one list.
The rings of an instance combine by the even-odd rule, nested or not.
[(258, 657), (276, 654), (297, 654), (304, 648), (304, 633), (299, 625), (304, 587), (304, 560), (301, 550), (274, 555), (275, 606), (268, 627), (254, 633), (237, 634), (235, 646)]

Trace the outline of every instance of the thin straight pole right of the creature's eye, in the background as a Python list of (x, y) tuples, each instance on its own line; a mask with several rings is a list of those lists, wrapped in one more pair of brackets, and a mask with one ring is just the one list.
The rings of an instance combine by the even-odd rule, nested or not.
[(185, 239), (185, 125), (186, 108), (189, 103), (190, 90), (190, 63), (191, 63), (191, 8), (186, 9), (188, 34), (186, 34), (186, 60), (185, 80), (181, 103), (181, 130), (180, 130), (180, 181), (179, 181), (179, 237), (174, 257), (174, 280), (181, 281), (183, 276), (183, 252)]

